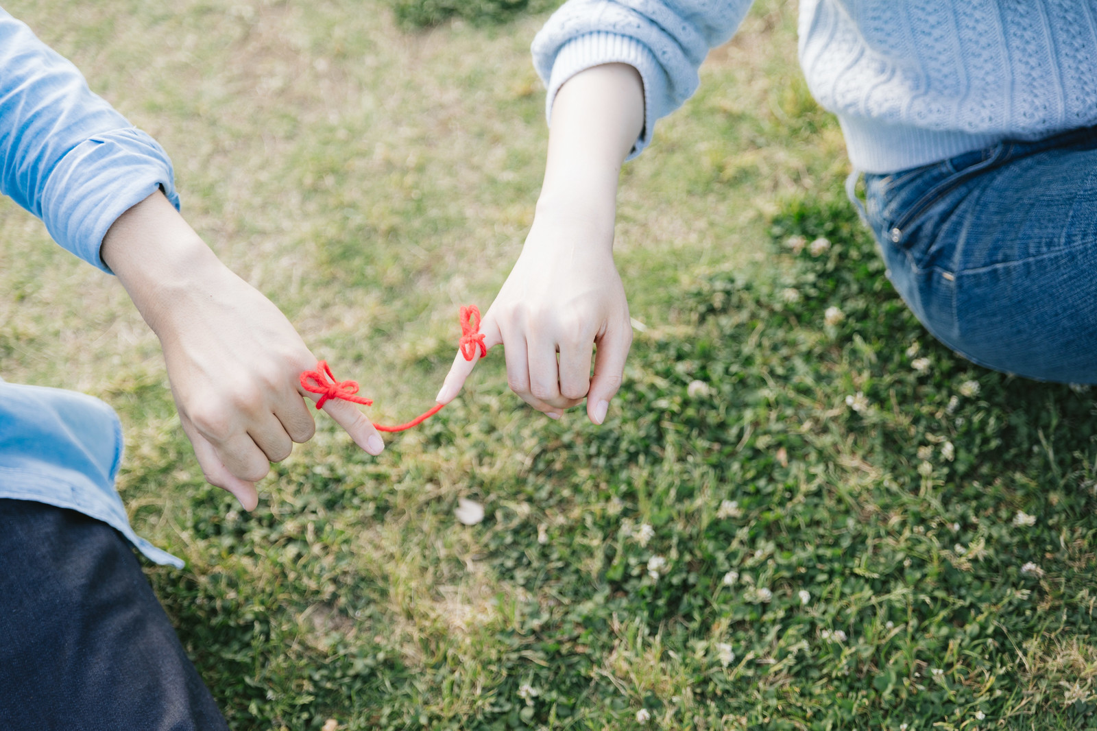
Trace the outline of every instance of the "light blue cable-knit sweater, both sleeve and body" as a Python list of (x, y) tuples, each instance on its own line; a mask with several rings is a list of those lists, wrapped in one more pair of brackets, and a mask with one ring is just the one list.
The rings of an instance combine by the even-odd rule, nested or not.
[[(709, 49), (750, 0), (570, 0), (533, 41), (556, 91), (583, 69), (630, 64), (646, 123), (697, 90)], [(1094, 0), (801, 0), (800, 64), (838, 116), (849, 157), (893, 172), (991, 146), (1097, 124)]]

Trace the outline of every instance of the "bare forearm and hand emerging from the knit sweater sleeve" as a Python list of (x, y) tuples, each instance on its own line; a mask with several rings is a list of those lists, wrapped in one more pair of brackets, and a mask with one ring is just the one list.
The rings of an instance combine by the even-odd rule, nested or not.
[[(601, 424), (621, 386), (632, 325), (613, 263), (613, 221), (621, 165), (643, 125), (632, 66), (596, 66), (561, 87), (533, 226), (480, 324), (488, 348), (504, 346), (510, 389), (552, 418), (586, 398), (590, 420)], [(440, 403), (457, 395), (476, 360), (456, 355)]]

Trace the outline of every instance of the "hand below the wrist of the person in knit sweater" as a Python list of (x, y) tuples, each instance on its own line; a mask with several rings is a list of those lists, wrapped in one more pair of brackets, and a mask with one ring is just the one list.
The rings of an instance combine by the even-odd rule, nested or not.
[[(598, 218), (539, 213), (480, 323), (484, 344), (504, 346), (507, 382), (522, 401), (559, 418), (586, 398), (595, 424), (606, 420), (632, 345), (629, 303), (613, 265), (612, 215), (609, 225)], [(439, 403), (456, 396), (475, 364), (456, 355)]]

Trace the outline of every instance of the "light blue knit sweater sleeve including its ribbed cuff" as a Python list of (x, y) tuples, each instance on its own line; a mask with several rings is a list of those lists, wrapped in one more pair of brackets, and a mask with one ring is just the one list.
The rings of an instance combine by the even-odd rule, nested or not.
[(652, 139), (655, 121), (689, 99), (709, 49), (726, 42), (753, 0), (569, 0), (533, 40), (533, 65), (548, 89), (592, 66), (629, 64), (644, 80), (644, 130), (632, 159)]

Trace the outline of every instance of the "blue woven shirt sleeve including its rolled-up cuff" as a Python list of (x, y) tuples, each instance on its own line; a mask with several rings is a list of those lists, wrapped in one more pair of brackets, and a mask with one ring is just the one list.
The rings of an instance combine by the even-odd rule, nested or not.
[(104, 271), (103, 236), (158, 188), (178, 209), (160, 145), (91, 92), (76, 66), (0, 10), (0, 192)]

